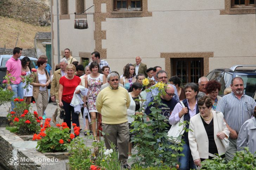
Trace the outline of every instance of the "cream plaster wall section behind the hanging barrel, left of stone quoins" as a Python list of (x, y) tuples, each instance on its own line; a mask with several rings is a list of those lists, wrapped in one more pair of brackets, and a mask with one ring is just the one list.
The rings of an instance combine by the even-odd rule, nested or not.
[[(94, 40), (94, 30), (95, 25), (93, 21), (93, 15), (87, 15), (88, 29), (74, 29), (74, 20), (76, 6), (75, 0), (69, 0), (69, 20), (59, 20), (59, 47), (60, 54), (61, 51), (65, 48), (69, 48), (72, 51), (72, 56), (75, 57), (78, 61), (79, 52), (92, 52), (95, 49), (95, 40)], [(93, 0), (85, 1), (85, 8), (88, 8), (93, 5)], [(60, 10), (60, 2), (59, 2)], [(93, 12), (94, 7), (90, 8), (87, 12)], [(58, 63), (58, 47), (57, 47), (57, 1), (53, 1), (53, 31), (54, 31), (54, 63)], [(63, 56), (62, 56), (63, 57)], [(62, 59), (60, 57), (60, 59)]]

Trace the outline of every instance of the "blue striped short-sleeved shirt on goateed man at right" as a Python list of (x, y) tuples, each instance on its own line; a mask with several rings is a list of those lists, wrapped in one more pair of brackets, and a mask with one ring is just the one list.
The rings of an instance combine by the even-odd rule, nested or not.
[(239, 100), (232, 91), (222, 97), (216, 111), (222, 112), (230, 128), (238, 133), (244, 122), (251, 118), (255, 106), (252, 97), (243, 94)]

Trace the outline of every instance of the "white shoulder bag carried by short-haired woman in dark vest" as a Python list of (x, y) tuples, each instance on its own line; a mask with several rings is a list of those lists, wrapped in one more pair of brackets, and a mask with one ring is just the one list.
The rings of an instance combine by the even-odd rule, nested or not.
[[(182, 107), (184, 108), (184, 103), (183, 102), (180, 102), (180, 104), (182, 105)], [(184, 115), (180, 118), (179, 122), (175, 123), (172, 125), (171, 129), (168, 131), (168, 140), (172, 143), (175, 143), (175, 144), (180, 144), (181, 142), (181, 138), (180, 135), (183, 135), (184, 134), (184, 127), (185, 127), (185, 124), (182, 124), (179, 126), (179, 124), (182, 122), (183, 123), (184, 121)], [(171, 138), (172, 137), (172, 138)]]

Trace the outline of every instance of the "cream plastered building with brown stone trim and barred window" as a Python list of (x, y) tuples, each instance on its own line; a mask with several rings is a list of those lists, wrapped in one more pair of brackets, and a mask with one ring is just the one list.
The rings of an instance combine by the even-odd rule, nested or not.
[[(78, 61), (97, 50), (111, 70), (141, 56), (147, 67), (198, 81), (214, 68), (256, 64), (255, 0), (58, 0), (59, 48)], [(75, 15), (90, 8), (88, 15)], [(74, 29), (87, 19), (88, 29)], [(52, 62), (58, 62), (57, 1), (51, 1)]]

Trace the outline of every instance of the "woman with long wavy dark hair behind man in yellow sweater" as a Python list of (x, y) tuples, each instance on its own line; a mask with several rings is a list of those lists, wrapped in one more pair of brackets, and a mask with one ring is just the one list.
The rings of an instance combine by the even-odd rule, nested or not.
[(134, 82), (136, 82), (135, 68), (133, 64), (126, 64), (120, 83), (123, 84), (123, 87), (128, 91)]

